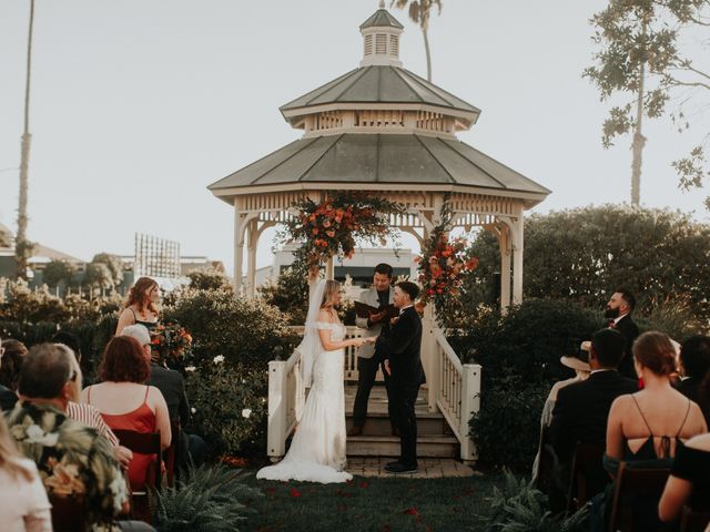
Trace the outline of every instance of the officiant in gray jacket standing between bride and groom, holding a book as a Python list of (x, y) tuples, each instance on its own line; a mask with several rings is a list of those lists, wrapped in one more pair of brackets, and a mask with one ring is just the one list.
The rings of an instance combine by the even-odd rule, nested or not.
[[(375, 275), (373, 277), (373, 287), (363, 291), (359, 301), (371, 307), (384, 308), (394, 303), (394, 289), (392, 288), (393, 269), (388, 264), (378, 264), (375, 266)], [(386, 313), (379, 311), (371, 314), (369, 318), (357, 318), (355, 321), (357, 327), (366, 329), (364, 336), (373, 337), (386, 336), (389, 332), (389, 320), (386, 319)], [(377, 342), (379, 346), (382, 342)], [(385, 388), (387, 390), (387, 408), (389, 409), (389, 375), (384, 370), (385, 360), (388, 358), (387, 352), (383, 352), (382, 347), (375, 347), (374, 344), (365, 344), (357, 351), (357, 393), (355, 395), (355, 405), (353, 407), (353, 427), (348, 430), (347, 436), (359, 436), (363, 433), (363, 426), (367, 418), (367, 401), (369, 392), (375, 383), (377, 369), (382, 368), (385, 376)], [(389, 412), (392, 422), (392, 412)], [(392, 424), (392, 433), (396, 434), (394, 423)]]

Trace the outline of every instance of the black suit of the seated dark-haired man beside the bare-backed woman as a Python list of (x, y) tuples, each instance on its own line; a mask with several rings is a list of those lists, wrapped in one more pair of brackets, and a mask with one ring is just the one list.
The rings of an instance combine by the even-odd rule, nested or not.
[[(618, 371), (599, 371), (587, 380), (566, 386), (557, 392), (550, 434), (555, 453), (561, 464), (560, 484), (566, 485), (577, 442), (607, 447), (607, 420), (613, 400), (637, 391), (637, 382)], [(601, 462), (586, 471), (587, 484), (594, 494), (609, 482)]]

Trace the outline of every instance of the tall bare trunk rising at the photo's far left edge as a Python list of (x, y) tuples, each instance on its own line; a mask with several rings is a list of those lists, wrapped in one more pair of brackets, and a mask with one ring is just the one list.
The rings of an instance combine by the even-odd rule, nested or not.
[(32, 30), (34, 25), (34, 0), (30, 0), (30, 28), (27, 35), (27, 79), (24, 84), (24, 129), (20, 151), (20, 197), (18, 205), (18, 235), (14, 239), (14, 257), (18, 263), (17, 276), (27, 278), (27, 266), (34, 244), (27, 239), (27, 195), (28, 166), (30, 163), (30, 75), (32, 66)]

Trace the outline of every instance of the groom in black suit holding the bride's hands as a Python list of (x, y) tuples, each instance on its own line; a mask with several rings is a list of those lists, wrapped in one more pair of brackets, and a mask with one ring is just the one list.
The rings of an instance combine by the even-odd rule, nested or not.
[(399, 460), (389, 462), (385, 470), (390, 473), (413, 473), (417, 470), (417, 418), (414, 406), (419, 386), (425, 381), (422, 367), (422, 319), (414, 309), (419, 287), (403, 282), (395, 286), (394, 303), (399, 317), (392, 320), (389, 336), (377, 338), (377, 348), (389, 354), (386, 369), (389, 370), (389, 400), (395, 427), (399, 430)]

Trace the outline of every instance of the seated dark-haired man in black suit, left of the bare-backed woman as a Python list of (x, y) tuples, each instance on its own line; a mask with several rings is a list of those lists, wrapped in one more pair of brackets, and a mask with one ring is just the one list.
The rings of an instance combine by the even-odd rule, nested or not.
[[(619, 375), (617, 367), (623, 357), (626, 339), (615, 329), (595, 332), (589, 347), (589, 378), (560, 389), (552, 410), (550, 438), (559, 460), (557, 488), (566, 493), (576, 444), (604, 449), (607, 418), (613, 400), (637, 389), (637, 382)], [(589, 494), (609, 482), (601, 463), (584, 472)]]

